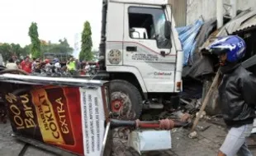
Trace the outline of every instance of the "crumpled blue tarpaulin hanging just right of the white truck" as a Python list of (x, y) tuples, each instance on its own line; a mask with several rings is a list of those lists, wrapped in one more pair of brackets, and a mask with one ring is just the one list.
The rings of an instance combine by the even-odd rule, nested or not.
[[(197, 46), (197, 34), (203, 25), (203, 21), (197, 20), (193, 25), (176, 28), (179, 39), (183, 45), (184, 59), (183, 66), (187, 66), (189, 59), (192, 59), (192, 54)], [(191, 60), (192, 61), (192, 60)]]

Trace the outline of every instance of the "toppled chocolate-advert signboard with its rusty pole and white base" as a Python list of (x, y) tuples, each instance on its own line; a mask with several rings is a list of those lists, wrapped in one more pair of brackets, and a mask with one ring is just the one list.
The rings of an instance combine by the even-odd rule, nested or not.
[(59, 155), (108, 156), (112, 130), (121, 126), (139, 154), (171, 149), (170, 130), (190, 124), (110, 119), (107, 81), (0, 74), (0, 85), (14, 136)]

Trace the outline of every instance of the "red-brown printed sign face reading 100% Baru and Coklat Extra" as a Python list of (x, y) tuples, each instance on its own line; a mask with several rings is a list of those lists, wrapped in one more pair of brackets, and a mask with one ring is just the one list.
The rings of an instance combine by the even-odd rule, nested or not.
[(5, 95), (17, 135), (78, 155), (99, 155), (105, 113), (102, 88), (31, 85)]

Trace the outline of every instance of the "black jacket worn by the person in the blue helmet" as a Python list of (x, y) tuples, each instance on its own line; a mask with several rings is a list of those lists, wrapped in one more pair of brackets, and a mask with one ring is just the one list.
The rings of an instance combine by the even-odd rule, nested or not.
[(253, 123), (256, 77), (240, 65), (223, 74), (219, 86), (219, 98), (226, 125), (243, 126)]

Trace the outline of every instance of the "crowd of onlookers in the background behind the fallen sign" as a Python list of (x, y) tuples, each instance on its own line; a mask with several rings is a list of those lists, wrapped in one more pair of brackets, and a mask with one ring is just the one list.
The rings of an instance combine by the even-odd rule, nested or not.
[(59, 73), (59, 74), (69, 74), (74, 75), (81, 73), (81, 75), (86, 75), (93, 69), (97, 69), (97, 64), (95, 66), (90, 66), (88, 62), (79, 62), (78, 59), (70, 57), (69, 61), (63, 66), (59, 62), (58, 58), (54, 58), (52, 62), (49, 59), (41, 60), (40, 58), (25, 57), (22, 61), (12, 57), (8, 60), (6, 64), (7, 69), (21, 69), (29, 74), (40, 74), (45, 73)]

